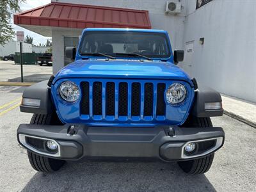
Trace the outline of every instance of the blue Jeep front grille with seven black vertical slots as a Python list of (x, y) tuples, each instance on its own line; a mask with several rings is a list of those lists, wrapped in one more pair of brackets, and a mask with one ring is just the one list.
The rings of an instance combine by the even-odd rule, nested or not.
[(165, 83), (81, 82), (81, 115), (95, 120), (164, 120), (165, 89)]

